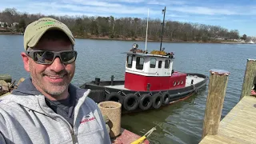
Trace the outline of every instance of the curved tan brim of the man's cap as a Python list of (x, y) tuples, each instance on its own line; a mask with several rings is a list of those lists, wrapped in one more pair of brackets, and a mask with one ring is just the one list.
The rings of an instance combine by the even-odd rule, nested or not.
[(42, 35), (45, 34), (46, 31), (48, 31), (48, 30), (61, 30), (61, 31), (63, 31), (66, 34), (66, 36), (68, 36), (70, 38), (70, 42), (74, 45), (74, 38), (72, 38), (72, 36), (66, 30), (62, 30), (58, 26), (52, 26), (52, 27), (49, 27), (46, 30), (42, 30), (38, 34), (34, 35), (34, 37), (30, 40), (30, 42), (27, 44), (27, 46), (29, 46), (29, 47), (36, 46), (38, 44), (40, 38), (42, 38)]

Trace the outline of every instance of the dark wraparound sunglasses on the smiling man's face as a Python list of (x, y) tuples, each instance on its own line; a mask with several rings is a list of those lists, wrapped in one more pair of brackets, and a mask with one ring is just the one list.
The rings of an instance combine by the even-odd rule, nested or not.
[(28, 50), (26, 54), (34, 60), (34, 62), (43, 65), (49, 65), (54, 62), (56, 57), (60, 58), (62, 63), (69, 64), (77, 58), (77, 51), (64, 50), (64, 51), (46, 51), (46, 50)]

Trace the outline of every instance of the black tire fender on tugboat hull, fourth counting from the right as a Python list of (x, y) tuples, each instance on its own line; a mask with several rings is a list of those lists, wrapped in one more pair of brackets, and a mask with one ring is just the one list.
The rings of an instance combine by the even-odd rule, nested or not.
[(138, 96), (136, 94), (126, 94), (123, 101), (126, 110), (136, 110), (138, 108)]

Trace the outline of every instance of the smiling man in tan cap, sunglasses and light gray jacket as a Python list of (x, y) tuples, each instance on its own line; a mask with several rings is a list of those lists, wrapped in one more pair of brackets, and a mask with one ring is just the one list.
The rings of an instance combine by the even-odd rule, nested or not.
[(68, 27), (53, 18), (30, 23), (22, 60), (30, 78), (0, 102), (0, 143), (106, 143), (110, 136), (90, 90), (70, 84), (77, 52)]

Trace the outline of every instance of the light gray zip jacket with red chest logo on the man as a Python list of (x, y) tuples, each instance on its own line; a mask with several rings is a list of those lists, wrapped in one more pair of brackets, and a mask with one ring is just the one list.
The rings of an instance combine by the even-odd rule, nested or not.
[(106, 124), (90, 90), (76, 90), (74, 127), (46, 105), (45, 97), (10, 94), (0, 102), (0, 143), (109, 144)]

